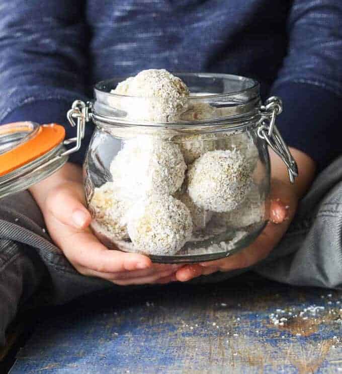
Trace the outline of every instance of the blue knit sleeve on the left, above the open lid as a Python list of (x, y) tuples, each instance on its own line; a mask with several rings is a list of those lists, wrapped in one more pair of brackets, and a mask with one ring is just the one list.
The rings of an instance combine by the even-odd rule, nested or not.
[(81, 0), (0, 0), (0, 123), (59, 122), (75, 136), (66, 111), (87, 100), (83, 7)]

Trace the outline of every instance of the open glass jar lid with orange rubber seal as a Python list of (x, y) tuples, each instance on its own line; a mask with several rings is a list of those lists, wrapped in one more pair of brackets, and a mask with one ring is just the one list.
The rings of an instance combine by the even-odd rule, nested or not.
[(0, 198), (27, 189), (65, 164), (65, 129), (56, 123), (0, 126)]

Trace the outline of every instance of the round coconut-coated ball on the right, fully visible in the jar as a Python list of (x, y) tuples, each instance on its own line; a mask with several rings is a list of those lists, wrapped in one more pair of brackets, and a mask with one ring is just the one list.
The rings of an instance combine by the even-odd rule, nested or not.
[(251, 180), (246, 157), (238, 149), (211, 151), (190, 166), (188, 193), (205, 210), (229, 211), (244, 200)]

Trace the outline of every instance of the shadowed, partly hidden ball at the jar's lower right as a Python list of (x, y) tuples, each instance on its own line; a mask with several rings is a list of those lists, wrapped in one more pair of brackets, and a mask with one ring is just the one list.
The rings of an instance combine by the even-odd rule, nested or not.
[(241, 229), (265, 220), (265, 198), (260, 194), (256, 184), (252, 184), (244, 201), (235, 209), (217, 213), (216, 218), (225, 225)]

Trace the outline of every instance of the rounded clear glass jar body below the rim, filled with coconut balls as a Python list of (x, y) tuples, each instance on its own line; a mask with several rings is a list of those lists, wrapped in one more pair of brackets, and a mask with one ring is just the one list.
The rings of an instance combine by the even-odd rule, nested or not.
[(269, 216), (269, 155), (257, 130), (257, 120), (233, 130), (98, 124), (84, 162), (94, 234), (164, 263), (246, 247)]

